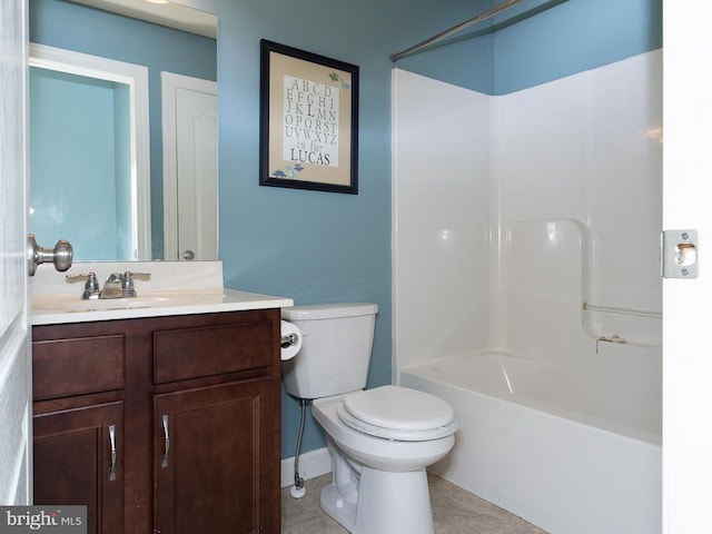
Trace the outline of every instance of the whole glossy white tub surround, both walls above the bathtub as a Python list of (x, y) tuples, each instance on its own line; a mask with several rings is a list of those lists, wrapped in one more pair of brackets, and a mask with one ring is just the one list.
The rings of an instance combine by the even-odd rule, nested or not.
[(501, 97), (394, 71), (396, 373), (613, 335), (659, 369), (661, 87), (660, 51)]

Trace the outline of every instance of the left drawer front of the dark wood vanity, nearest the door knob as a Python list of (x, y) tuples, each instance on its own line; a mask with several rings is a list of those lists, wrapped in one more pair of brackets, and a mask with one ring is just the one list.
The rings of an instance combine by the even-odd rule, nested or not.
[(125, 360), (120, 334), (32, 342), (32, 398), (122, 389)]

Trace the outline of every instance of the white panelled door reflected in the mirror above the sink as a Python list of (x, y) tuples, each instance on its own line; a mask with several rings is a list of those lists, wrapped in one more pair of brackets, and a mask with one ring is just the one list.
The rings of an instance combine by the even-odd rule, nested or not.
[(165, 258), (218, 258), (217, 83), (161, 72)]

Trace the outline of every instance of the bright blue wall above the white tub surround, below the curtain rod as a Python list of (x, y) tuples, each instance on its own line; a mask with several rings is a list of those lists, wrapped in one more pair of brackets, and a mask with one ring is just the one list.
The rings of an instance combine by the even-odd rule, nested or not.
[[(448, 10), (447, 3), (439, 6)], [(473, 7), (451, 26), (474, 13)], [(413, 33), (409, 44), (448, 27), (432, 24), (425, 33)], [(662, 0), (522, 0), (400, 60), (398, 67), (487, 95), (506, 95), (661, 47)]]

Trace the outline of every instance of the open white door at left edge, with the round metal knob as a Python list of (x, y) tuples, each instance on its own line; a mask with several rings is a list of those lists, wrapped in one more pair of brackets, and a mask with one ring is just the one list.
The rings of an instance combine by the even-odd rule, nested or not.
[(27, 2), (0, 0), (0, 505), (32, 498), (26, 26)]

